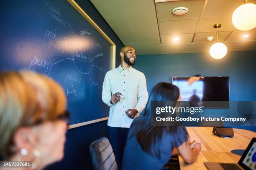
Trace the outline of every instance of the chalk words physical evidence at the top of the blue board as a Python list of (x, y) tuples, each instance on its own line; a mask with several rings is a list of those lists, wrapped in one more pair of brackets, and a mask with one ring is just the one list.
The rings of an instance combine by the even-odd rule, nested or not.
[(52, 5), (48, 0), (45, 0), (44, 1), (44, 9), (50, 10), (49, 14), (51, 15), (51, 18), (57, 20), (64, 27), (66, 27), (66, 21), (61, 18), (59, 8), (54, 7), (54, 5)]

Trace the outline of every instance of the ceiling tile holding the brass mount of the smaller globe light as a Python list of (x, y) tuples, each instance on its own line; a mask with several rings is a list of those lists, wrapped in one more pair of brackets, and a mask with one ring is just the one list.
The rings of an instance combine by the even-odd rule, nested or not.
[(231, 17), (222, 17), (200, 19), (197, 25), (196, 32), (215, 32), (216, 28), (213, 28), (214, 24), (221, 24), (221, 27), (218, 28), (219, 31), (237, 30), (232, 24)]

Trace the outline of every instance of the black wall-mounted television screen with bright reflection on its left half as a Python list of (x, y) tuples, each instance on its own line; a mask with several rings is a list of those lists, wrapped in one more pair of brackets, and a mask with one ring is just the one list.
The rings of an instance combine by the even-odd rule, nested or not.
[[(229, 107), (229, 77), (172, 77), (182, 101), (197, 101), (195, 106)], [(197, 104), (198, 103), (198, 104)]]

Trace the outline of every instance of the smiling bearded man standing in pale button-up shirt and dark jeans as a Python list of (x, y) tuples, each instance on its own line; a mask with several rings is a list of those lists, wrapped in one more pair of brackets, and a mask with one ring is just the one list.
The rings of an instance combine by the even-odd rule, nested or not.
[(102, 86), (102, 101), (110, 106), (108, 138), (118, 169), (121, 169), (123, 149), (133, 118), (148, 101), (146, 78), (142, 72), (132, 68), (136, 60), (135, 49), (122, 47), (120, 59), (120, 66), (107, 72)]

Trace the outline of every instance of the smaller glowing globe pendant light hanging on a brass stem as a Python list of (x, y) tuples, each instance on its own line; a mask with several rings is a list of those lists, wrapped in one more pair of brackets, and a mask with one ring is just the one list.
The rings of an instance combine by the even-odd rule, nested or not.
[(220, 26), (221, 26), (220, 24), (213, 25), (214, 28), (217, 28), (217, 42), (210, 47), (210, 55), (215, 59), (220, 59), (225, 57), (228, 51), (225, 44), (218, 42), (219, 41), (218, 28), (220, 28)]

